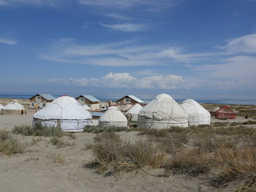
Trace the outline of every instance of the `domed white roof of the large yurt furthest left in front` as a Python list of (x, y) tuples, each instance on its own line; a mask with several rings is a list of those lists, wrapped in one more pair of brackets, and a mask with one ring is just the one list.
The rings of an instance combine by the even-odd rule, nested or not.
[(39, 119), (91, 119), (91, 114), (74, 98), (62, 96), (34, 114)]

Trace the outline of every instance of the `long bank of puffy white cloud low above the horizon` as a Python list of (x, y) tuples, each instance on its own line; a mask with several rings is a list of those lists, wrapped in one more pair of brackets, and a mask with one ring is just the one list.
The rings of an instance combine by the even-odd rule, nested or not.
[(202, 89), (202, 90), (241, 90), (255, 87), (247, 82), (241, 81), (216, 81), (207, 78), (191, 78), (182, 75), (170, 74), (166, 76), (154, 75), (145, 78), (136, 78), (129, 73), (106, 74), (102, 78), (70, 78), (51, 79), (50, 82), (70, 84), (74, 86), (96, 86), (105, 88), (126, 89)]

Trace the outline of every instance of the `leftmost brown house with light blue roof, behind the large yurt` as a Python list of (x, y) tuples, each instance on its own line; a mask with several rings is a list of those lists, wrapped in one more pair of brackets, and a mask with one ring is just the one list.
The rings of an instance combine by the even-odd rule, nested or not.
[(52, 101), (54, 101), (54, 99), (54, 96), (51, 94), (35, 94), (30, 98), (30, 108), (43, 108), (48, 106)]

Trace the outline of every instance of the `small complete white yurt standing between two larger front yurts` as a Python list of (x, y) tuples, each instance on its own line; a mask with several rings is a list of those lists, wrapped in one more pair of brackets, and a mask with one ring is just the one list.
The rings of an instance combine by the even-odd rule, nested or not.
[(127, 118), (116, 106), (110, 106), (98, 119), (98, 126), (127, 126)]

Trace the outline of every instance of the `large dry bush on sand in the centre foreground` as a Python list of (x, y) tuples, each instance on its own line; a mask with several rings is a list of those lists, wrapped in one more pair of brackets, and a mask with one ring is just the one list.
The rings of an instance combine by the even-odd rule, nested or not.
[(144, 167), (156, 168), (163, 166), (166, 155), (150, 142), (122, 142), (118, 134), (102, 133), (95, 138), (97, 143), (92, 146), (94, 162), (99, 172), (122, 174), (142, 170)]

